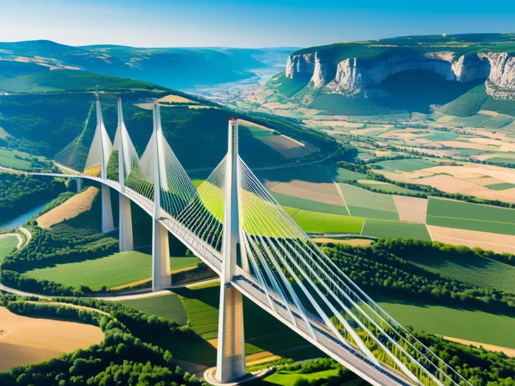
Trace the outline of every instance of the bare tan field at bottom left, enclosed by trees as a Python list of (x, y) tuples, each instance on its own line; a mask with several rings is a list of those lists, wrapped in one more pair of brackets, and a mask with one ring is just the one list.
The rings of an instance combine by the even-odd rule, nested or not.
[(40, 363), (104, 340), (99, 327), (16, 315), (0, 307), (0, 372)]

